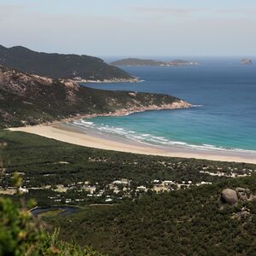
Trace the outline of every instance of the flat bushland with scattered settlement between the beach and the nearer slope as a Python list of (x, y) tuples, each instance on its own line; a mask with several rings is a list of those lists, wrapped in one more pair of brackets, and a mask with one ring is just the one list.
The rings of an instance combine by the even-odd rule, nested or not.
[[(154, 180), (172, 180), (177, 183), (190, 181), (192, 185), (201, 182), (217, 183), (230, 180), (226, 176), (231, 172), (250, 175), (256, 169), (250, 164), (84, 148), (22, 132), (1, 131), (0, 137), (8, 144), (3, 150), (4, 166), (7, 168), (2, 180), (3, 189), (11, 186), (10, 177), (18, 170), (26, 189), (29, 189), (26, 197), (35, 198), (39, 206), (62, 205), (66, 199), (71, 199), (68, 202), (71, 204), (105, 203), (108, 195), (113, 202), (132, 200), (141, 195), (136, 192), (137, 186), (152, 188)], [(210, 168), (208, 171), (221, 171), (226, 176), (215, 177), (202, 172), (207, 167)], [(124, 198), (121, 194), (115, 195), (113, 189), (108, 189), (109, 183), (121, 178), (131, 181), (129, 194)], [(104, 190), (102, 196), (88, 196), (90, 192), (83, 189), (81, 184), (86, 181), (96, 187), (96, 194)], [(66, 189), (57, 189), (59, 185)]]

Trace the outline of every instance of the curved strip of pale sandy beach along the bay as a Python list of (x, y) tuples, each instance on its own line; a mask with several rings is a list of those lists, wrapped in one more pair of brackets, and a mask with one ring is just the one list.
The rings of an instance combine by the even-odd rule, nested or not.
[(65, 124), (36, 125), (10, 128), (10, 131), (24, 131), (48, 137), (64, 143), (72, 143), (89, 148), (101, 148), (134, 154), (160, 155), (169, 157), (195, 158), (204, 160), (234, 161), (256, 164), (256, 154), (232, 150), (199, 150), (194, 148), (176, 148), (133, 143), (131, 141), (114, 141), (108, 137), (96, 137), (85, 134), (79, 129)]

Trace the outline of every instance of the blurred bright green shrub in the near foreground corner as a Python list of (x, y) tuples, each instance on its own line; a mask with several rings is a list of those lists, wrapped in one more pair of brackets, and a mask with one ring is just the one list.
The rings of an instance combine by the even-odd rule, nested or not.
[[(21, 185), (20, 180), (15, 175), (15, 187)], [(19, 190), (16, 191), (18, 202), (0, 197), (0, 255), (102, 255), (91, 247), (79, 247), (74, 241), (61, 241), (58, 230), (49, 235), (40, 218), (28, 211), (34, 202), (26, 204)]]

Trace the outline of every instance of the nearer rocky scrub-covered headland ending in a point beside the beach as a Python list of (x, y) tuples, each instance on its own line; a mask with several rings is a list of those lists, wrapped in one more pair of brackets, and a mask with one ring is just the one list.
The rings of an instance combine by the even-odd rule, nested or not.
[(35, 125), (84, 114), (188, 108), (173, 96), (96, 90), (0, 66), (0, 127)]

